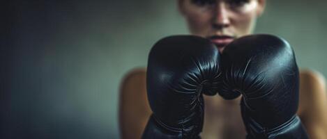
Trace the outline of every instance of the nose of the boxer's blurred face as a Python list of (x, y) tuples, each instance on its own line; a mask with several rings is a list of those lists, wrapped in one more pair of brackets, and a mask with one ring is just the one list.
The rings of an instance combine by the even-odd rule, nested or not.
[(213, 10), (213, 28), (222, 29), (230, 25), (228, 9), (225, 3), (218, 2)]

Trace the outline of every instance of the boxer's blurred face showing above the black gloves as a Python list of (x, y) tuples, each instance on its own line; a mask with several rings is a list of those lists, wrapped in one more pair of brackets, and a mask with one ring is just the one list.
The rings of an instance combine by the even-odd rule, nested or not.
[(265, 0), (178, 0), (178, 8), (193, 35), (210, 39), (220, 52), (243, 35), (252, 33)]

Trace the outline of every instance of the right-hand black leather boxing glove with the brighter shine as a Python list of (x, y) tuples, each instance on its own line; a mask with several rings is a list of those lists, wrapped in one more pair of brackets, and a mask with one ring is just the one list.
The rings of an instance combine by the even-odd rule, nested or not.
[(225, 99), (242, 95), (241, 112), (247, 138), (308, 138), (296, 115), (298, 66), (282, 38), (249, 35), (227, 45), (222, 53)]

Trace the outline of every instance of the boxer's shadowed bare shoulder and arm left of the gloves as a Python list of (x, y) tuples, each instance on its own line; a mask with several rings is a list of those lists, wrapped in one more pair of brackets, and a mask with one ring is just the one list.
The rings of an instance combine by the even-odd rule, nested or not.
[(121, 138), (141, 138), (151, 113), (146, 95), (146, 70), (132, 70), (123, 78), (119, 90)]

